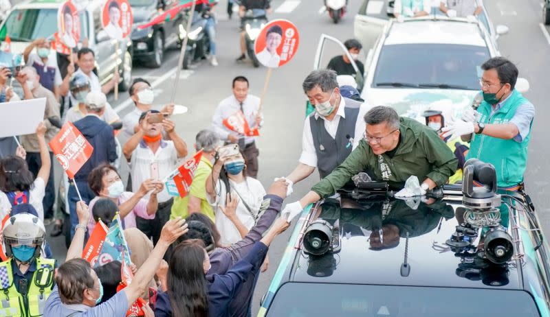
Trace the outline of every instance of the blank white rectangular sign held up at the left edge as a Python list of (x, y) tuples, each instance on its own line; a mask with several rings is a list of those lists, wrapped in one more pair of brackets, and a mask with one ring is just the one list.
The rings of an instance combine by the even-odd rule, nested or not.
[(3, 102), (0, 105), (0, 137), (34, 134), (44, 120), (46, 98)]

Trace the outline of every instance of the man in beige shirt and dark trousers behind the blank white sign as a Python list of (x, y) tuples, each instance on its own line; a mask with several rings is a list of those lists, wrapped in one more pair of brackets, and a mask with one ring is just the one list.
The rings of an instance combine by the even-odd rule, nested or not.
[[(46, 108), (44, 111), (44, 119), (50, 118), (50, 120), (56, 123), (58, 126), (61, 124), (61, 115), (59, 114), (59, 104), (57, 99), (52, 93), (45, 89), (44, 86), (40, 83), (40, 76), (36, 73), (34, 67), (27, 66), (21, 70), (25, 75), (27, 75), (27, 85), (32, 92), (32, 95), (35, 98), (46, 98)], [(50, 120), (45, 120), (46, 130), (46, 143), (50, 143), (52, 138), (58, 132), (58, 128), (52, 125)], [(25, 148), (27, 156), (25, 160), (29, 166), (30, 172), (32, 172), (34, 178), (39, 173), (40, 167), (42, 166), (42, 161), (40, 158), (40, 145), (39, 140), (36, 137), (36, 134), (27, 134), (21, 136), (21, 145)], [(50, 152), (50, 161), (53, 161), (54, 154)], [(50, 169), (50, 178), (47, 180), (45, 197), (43, 200), (44, 207), (44, 218), (52, 218), (54, 202), (56, 199), (56, 192), (54, 187), (54, 169)]]

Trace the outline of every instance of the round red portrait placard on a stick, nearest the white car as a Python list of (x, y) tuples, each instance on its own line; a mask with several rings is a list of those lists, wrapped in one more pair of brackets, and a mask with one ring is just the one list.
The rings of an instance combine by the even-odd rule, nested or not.
[(256, 58), (265, 67), (277, 68), (292, 60), (300, 36), (296, 25), (288, 20), (273, 20), (261, 30), (254, 51)]

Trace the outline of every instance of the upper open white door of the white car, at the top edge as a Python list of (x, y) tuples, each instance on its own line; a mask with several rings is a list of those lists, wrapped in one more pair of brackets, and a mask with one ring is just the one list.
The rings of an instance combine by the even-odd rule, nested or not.
[(373, 47), (388, 25), (388, 2), (390, 0), (364, 0), (358, 14), (355, 14), (353, 35), (364, 49)]

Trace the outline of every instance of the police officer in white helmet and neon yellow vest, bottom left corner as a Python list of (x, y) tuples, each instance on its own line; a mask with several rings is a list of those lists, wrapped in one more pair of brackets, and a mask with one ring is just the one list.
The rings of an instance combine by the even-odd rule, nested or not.
[(54, 287), (54, 259), (41, 257), (45, 228), (31, 213), (17, 213), (5, 223), (8, 259), (0, 263), (0, 316), (42, 316)]

